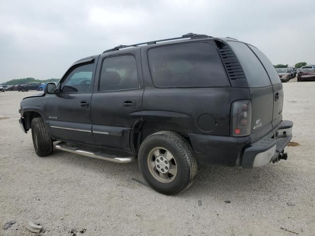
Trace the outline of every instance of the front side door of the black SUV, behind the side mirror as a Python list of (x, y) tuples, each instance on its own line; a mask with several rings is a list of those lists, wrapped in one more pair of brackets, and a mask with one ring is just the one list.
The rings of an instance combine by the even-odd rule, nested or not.
[(49, 128), (57, 140), (94, 144), (91, 97), (96, 59), (73, 65), (55, 94), (46, 94)]

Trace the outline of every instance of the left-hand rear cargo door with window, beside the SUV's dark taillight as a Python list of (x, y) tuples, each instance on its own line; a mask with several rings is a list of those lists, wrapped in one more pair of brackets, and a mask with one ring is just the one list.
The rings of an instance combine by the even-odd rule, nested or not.
[(237, 41), (228, 41), (228, 44), (240, 61), (249, 84), (252, 138), (255, 140), (273, 128), (274, 88), (266, 70), (248, 45)]

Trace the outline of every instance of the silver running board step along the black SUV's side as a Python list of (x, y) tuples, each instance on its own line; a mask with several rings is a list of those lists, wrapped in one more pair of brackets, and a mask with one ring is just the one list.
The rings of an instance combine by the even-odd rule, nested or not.
[(105, 150), (104, 148), (87, 147), (65, 142), (56, 144), (56, 149), (117, 163), (129, 163), (136, 159), (135, 156), (126, 155), (126, 153), (120, 151)]

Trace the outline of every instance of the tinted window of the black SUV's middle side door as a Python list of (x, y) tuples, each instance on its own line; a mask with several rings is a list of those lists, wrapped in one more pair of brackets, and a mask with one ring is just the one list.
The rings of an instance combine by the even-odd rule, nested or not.
[(131, 55), (105, 58), (99, 91), (139, 89), (136, 59)]

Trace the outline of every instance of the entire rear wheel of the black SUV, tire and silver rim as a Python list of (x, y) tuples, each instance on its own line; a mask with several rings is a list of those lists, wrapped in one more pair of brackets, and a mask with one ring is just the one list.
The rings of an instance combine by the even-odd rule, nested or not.
[(197, 159), (190, 144), (170, 131), (148, 136), (140, 146), (138, 162), (148, 184), (166, 195), (189, 188), (197, 174)]

